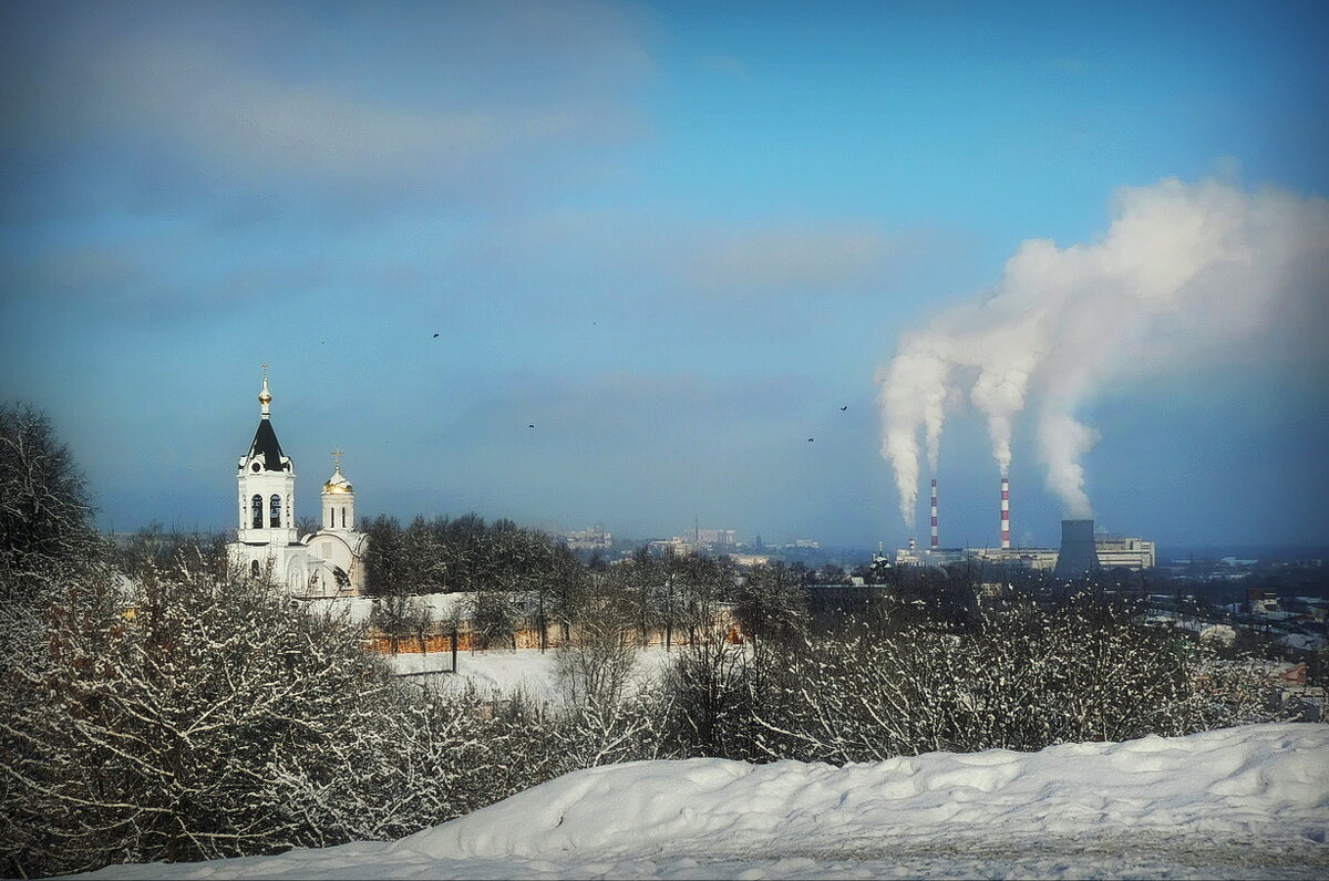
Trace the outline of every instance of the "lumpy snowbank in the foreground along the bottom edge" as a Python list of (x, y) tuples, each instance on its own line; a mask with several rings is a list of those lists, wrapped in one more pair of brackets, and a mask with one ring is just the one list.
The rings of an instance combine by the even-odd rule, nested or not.
[(848, 765), (643, 761), (401, 841), (104, 878), (1329, 877), (1329, 726)]

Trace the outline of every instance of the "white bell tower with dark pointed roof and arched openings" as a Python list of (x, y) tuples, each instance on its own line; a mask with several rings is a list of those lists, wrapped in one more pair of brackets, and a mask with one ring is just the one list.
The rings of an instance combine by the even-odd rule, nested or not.
[(263, 391), (259, 392), (259, 421), (254, 441), (241, 456), (235, 481), (239, 485), (239, 530), (245, 545), (284, 547), (296, 542), (295, 462), (282, 453), (272, 429), (272, 393), (267, 391), (267, 364), (263, 364)]

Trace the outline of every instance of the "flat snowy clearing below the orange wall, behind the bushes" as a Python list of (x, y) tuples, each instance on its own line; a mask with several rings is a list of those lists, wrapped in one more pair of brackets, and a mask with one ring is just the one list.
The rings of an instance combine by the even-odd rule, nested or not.
[[(637, 652), (637, 675), (650, 678), (678, 654), (662, 647), (643, 648)], [(419, 678), (420, 682), (440, 688), (464, 688), (473, 684), (480, 694), (493, 691), (512, 694), (524, 690), (526, 694), (546, 700), (558, 698), (558, 651), (550, 648), (518, 648), (516, 651), (459, 651), (457, 672), (439, 672), (452, 667), (451, 652), (396, 654), (384, 655), (399, 675)]]

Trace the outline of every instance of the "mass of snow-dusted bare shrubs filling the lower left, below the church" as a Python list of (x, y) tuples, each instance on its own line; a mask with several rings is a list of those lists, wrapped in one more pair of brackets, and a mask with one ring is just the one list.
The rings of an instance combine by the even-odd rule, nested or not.
[(221, 557), (128, 598), (69, 579), (47, 615), (0, 682), (7, 873), (395, 838), (562, 769), (520, 708), (404, 684)]

